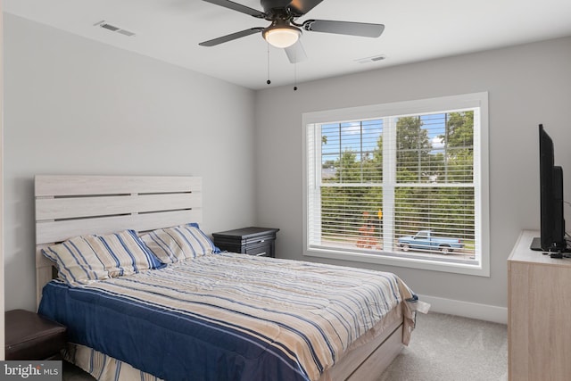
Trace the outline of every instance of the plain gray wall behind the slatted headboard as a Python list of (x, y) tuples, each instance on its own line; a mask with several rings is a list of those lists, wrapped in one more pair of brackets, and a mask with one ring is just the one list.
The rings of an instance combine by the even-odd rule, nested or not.
[(4, 14), (5, 308), (35, 308), (37, 174), (203, 177), (208, 233), (253, 223), (253, 91)]

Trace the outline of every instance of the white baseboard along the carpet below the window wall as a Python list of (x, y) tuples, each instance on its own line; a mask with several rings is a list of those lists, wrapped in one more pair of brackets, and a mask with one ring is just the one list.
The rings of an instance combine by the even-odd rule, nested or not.
[(418, 295), (422, 302), (430, 303), (430, 311), (462, 316), (464, 318), (508, 324), (508, 308), (474, 302), (456, 301), (436, 296)]

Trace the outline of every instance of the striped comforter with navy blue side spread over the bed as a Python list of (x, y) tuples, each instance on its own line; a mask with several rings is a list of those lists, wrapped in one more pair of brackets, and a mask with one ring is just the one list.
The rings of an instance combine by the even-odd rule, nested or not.
[(220, 253), (86, 286), (55, 280), (39, 312), (70, 342), (167, 380), (315, 380), (410, 298), (392, 273)]

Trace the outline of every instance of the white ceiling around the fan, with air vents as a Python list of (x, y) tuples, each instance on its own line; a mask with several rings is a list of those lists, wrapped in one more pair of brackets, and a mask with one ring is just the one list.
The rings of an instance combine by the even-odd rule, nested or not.
[[(262, 10), (258, 0), (236, 0)], [(304, 32), (309, 59), (292, 64), (261, 35), (213, 47), (199, 42), (268, 21), (201, 0), (4, 0), (4, 12), (259, 89), (571, 36), (571, 0), (324, 0), (309, 19), (385, 24), (379, 38)], [(99, 21), (135, 32), (126, 37)], [(268, 57), (269, 49), (269, 57)], [(384, 61), (356, 60), (386, 56)]]

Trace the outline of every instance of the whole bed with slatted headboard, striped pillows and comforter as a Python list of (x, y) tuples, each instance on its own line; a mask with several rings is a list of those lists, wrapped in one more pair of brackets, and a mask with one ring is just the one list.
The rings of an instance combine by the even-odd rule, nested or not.
[[(97, 379), (368, 380), (410, 340), (418, 301), (391, 273), (218, 253), (202, 178), (37, 176), (35, 193), (38, 311)], [(177, 234), (186, 252), (161, 252)], [(104, 277), (61, 261), (115, 240), (145, 258)]]

